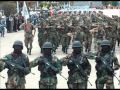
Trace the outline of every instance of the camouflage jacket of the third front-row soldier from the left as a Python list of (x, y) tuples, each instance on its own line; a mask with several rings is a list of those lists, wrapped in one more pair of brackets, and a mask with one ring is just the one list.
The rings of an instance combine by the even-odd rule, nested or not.
[[(77, 64), (75, 64), (77, 63)], [(69, 71), (69, 81), (72, 82), (81, 82), (86, 80), (88, 75), (91, 72), (91, 65), (84, 54), (79, 54), (76, 57), (73, 54), (70, 54), (64, 58), (62, 58), (62, 65), (68, 67)], [(77, 67), (78, 66), (78, 67)], [(81, 68), (81, 70), (80, 70)], [(82, 74), (85, 74), (82, 75)]]

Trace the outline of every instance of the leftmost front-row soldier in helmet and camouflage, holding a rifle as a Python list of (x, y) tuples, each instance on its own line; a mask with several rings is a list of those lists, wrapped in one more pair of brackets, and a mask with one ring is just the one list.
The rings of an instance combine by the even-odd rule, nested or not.
[(30, 73), (29, 58), (22, 53), (23, 43), (15, 41), (14, 51), (0, 59), (0, 72), (8, 69), (7, 89), (25, 89), (25, 76)]

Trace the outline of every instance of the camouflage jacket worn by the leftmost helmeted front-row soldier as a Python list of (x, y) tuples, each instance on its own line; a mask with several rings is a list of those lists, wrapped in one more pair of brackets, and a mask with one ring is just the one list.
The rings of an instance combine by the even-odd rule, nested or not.
[(25, 75), (29, 74), (31, 71), (31, 69), (29, 68), (28, 56), (23, 53), (20, 55), (10, 53), (0, 60), (3, 60), (1, 71), (5, 68), (8, 69), (8, 82), (16, 80), (15, 83), (17, 85), (24, 84), (26, 82)]

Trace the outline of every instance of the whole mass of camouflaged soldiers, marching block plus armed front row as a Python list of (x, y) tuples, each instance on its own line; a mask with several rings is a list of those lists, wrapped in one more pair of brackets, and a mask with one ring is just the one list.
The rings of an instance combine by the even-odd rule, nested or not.
[[(120, 69), (115, 55), (116, 44), (119, 46), (120, 43), (119, 20), (119, 16), (111, 18), (102, 11), (65, 11), (52, 16), (41, 11), (35, 19), (31, 16), (24, 20), (19, 25), (20, 30), (24, 31), (24, 36), (21, 36), (24, 42), (16, 40), (13, 52), (0, 58), (0, 72), (8, 69), (6, 88), (26, 89), (25, 76), (38, 66), (39, 89), (57, 89), (58, 74), (66, 80), (68, 89), (88, 89), (88, 84), (92, 86), (93, 83), (96, 89), (115, 89), (114, 77), (120, 85), (120, 78), (114, 73)], [(4, 33), (2, 28), (0, 33)], [(32, 56), (35, 35), (38, 37), (36, 44), (39, 45), (40, 56), (30, 61), (31, 58), (22, 52), (23, 43), (27, 48), (26, 53)], [(62, 58), (55, 55), (60, 46), (66, 54)], [(68, 53), (71, 46), (72, 52)], [(95, 82), (89, 81), (93, 67), (90, 59), (96, 63)], [(68, 68), (68, 78), (61, 72), (64, 66)]]

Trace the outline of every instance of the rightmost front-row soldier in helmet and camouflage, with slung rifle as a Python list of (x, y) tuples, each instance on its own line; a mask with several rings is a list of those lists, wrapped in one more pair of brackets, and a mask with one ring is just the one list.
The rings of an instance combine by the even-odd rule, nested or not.
[(111, 52), (109, 40), (103, 40), (100, 45), (101, 51), (95, 59), (97, 70), (96, 88), (103, 89), (106, 84), (106, 89), (114, 89), (114, 70), (118, 70), (120, 64), (117, 57)]

